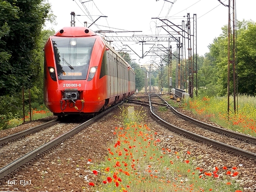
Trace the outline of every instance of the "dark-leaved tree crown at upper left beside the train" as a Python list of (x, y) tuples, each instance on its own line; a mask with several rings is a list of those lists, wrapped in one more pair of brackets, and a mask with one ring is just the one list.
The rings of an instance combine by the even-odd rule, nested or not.
[(43, 0), (0, 0), (0, 96), (32, 88), (40, 73), (38, 40), (50, 10)]

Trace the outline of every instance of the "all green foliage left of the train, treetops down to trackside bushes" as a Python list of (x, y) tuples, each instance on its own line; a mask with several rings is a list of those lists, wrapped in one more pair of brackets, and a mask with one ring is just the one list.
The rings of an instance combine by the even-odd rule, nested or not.
[[(25, 89), (25, 115), (43, 104), (43, 47), (54, 32), (42, 31), (54, 21), (44, 0), (0, 0), (0, 128), (23, 117), (21, 89)], [(49, 15), (48, 15), (49, 14)]]

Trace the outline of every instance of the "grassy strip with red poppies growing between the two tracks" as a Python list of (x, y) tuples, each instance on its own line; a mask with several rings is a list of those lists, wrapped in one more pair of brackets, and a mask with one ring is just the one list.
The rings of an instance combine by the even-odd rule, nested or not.
[[(134, 111), (132, 121), (128, 121), (127, 109), (122, 110), (121, 118), (126, 123), (113, 129), (117, 138), (109, 144), (109, 155), (104, 162), (91, 166), (95, 174), (95, 180), (89, 182), (91, 191), (242, 192), (235, 182), (239, 174), (236, 167), (215, 167), (212, 172), (205, 172), (193, 163), (190, 151), (161, 148), (158, 133), (134, 119), (143, 119), (141, 111)], [(222, 179), (219, 178), (221, 171), (226, 173)]]

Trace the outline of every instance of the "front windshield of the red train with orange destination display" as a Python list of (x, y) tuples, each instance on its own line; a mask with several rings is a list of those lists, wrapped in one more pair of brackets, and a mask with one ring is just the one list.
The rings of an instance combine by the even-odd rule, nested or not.
[(95, 38), (53, 38), (59, 80), (86, 79)]

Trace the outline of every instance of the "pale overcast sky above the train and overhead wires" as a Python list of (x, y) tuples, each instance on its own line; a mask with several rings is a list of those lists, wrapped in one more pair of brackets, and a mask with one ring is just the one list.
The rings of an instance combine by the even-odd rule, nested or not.
[[(91, 17), (89, 18), (89, 11)], [(231, 0), (232, 1), (232, 0)], [(207, 46), (213, 42), (215, 37), (222, 33), (222, 27), (228, 22), (228, 8), (223, 4), (228, 4), (228, 0), (49, 0), (52, 4), (53, 13), (57, 16), (57, 26), (52, 26), (55, 31), (63, 27), (70, 26), (71, 15), (75, 12), (75, 26), (88, 26), (95, 21), (90, 29), (120, 31), (142, 31), (142, 32), (122, 32), (106, 33), (107, 36), (131, 36), (134, 35), (152, 35), (165, 34), (167, 32), (160, 29), (164, 24), (159, 19), (167, 18), (175, 25), (182, 25), (182, 20), (187, 21), (187, 14), (197, 18), (197, 53), (204, 55), (209, 52)], [(174, 3), (171, 3), (174, 2)], [(232, 3), (232, 2), (231, 2)], [(253, 20), (256, 22), (255, 14), (256, 0), (236, 0), (236, 18), (239, 21)], [(81, 16), (78, 16), (81, 15)], [(185, 16), (185, 17), (183, 17)], [(192, 19), (191, 19), (192, 21)], [(156, 28), (158, 26), (158, 28)], [(50, 27), (50, 26), (49, 26)], [(192, 31), (191, 31), (192, 32)], [(122, 42), (128, 44), (139, 56), (142, 56), (142, 45), (136, 42)], [(117, 50), (124, 48), (121, 42), (112, 43)], [(152, 42), (149, 42), (152, 43)], [(144, 53), (149, 51), (152, 45), (144, 46)], [(164, 45), (165, 46), (165, 45)], [(176, 49), (176, 43), (172, 45), (173, 51)], [(128, 50), (127, 48), (126, 50)], [(132, 58), (139, 59), (131, 50), (129, 53)], [(143, 60), (145, 63), (152, 60), (152, 56), (147, 56)]]

